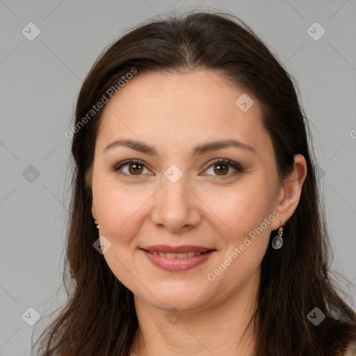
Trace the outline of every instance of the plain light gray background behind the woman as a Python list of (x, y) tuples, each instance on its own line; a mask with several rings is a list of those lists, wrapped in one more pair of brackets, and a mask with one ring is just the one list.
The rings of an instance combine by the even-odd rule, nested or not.
[[(355, 0), (0, 0), (0, 355), (30, 355), (31, 333), (41, 322), (30, 326), (22, 315), (29, 307), (47, 314), (65, 298), (60, 285), (71, 140), (64, 133), (84, 77), (124, 29), (199, 4), (247, 22), (298, 80), (321, 172), (332, 266), (353, 281), (341, 281), (341, 289), (355, 303)], [(29, 22), (40, 29), (32, 41), (22, 33)], [(307, 32), (314, 22), (326, 31), (318, 40)], [(309, 31), (315, 37), (322, 29)], [(34, 317), (26, 313), (27, 320)]]

